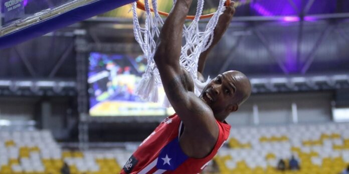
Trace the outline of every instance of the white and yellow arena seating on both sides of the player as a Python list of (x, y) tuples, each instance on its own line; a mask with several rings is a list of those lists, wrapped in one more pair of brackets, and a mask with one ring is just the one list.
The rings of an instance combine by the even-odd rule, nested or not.
[[(0, 173), (118, 173), (133, 150), (65, 150), (50, 131), (0, 130)], [(277, 171), (295, 155), (299, 171)], [(216, 157), (217, 173), (336, 174), (349, 164), (349, 123), (232, 127)]]

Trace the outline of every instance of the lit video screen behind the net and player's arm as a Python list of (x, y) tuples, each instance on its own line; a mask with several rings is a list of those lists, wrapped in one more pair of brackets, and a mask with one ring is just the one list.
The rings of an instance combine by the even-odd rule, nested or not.
[[(146, 102), (135, 94), (145, 68), (146, 58), (142, 55), (91, 52), (88, 71), (90, 115), (163, 116), (174, 113), (161, 102)], [(159, 90), (159, 96), (164, 95), (163, 89)]]

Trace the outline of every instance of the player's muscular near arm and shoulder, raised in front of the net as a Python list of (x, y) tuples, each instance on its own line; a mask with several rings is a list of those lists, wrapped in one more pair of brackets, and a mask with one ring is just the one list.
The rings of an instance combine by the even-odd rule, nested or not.
[(195, 139), (186, 143), (185, 152), (200, 150), (197, 146), (209, 149), (192, 153), (193, 157), (203, 157), (216, 143), (218, 125), (212, 109), (194, 94), (192, 77), (180, 65), (183, 24), (191, 3), (192, 0), (177, 0), (162, 27), (154, 61), (166, 96), (185, 125), (183, 136)]

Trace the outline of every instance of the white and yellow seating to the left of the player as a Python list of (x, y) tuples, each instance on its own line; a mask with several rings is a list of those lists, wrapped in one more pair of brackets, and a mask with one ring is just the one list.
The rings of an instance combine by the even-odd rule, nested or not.
[(50, 131), (0, 131), (0, 173), (119, 173), (130, 152), (125, 150), (62, 150)]

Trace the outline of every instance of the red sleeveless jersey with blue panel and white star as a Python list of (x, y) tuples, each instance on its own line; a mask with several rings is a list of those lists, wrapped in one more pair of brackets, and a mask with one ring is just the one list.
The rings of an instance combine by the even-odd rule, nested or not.
[(219, 127), (217, 142), (208, 156), (198, 159), (182, 151), (180, 117), (176, 113), (168, 116), (143, 140), (120, 173), (200, 173), (229, 136), (230, 125), (216, 122)]

